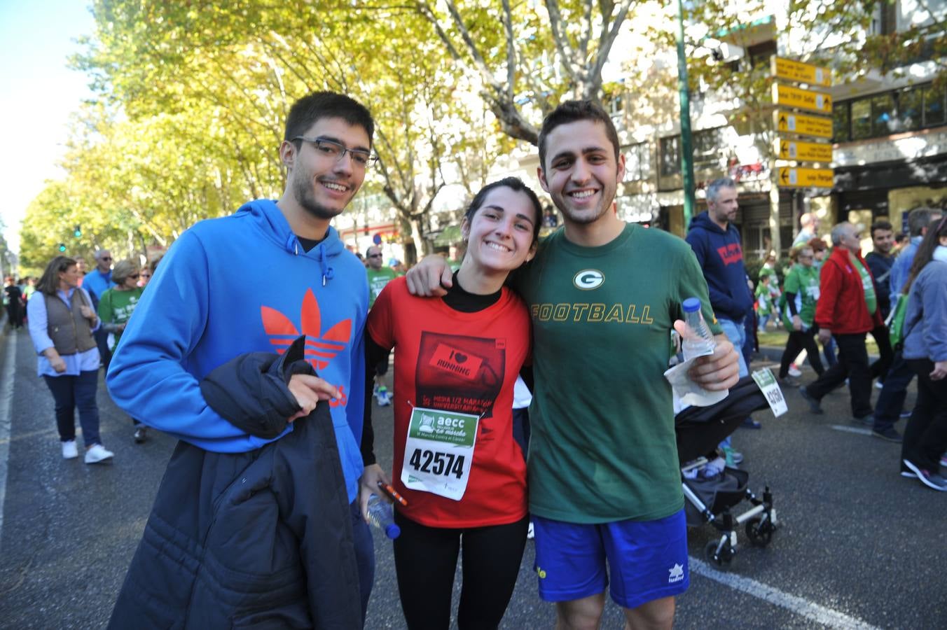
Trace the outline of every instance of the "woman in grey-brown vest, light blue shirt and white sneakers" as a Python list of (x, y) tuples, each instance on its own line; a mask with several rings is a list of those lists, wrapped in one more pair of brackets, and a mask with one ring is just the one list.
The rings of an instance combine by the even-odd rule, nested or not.
[(29, 336), (43, 376), (56, 403), (56, 426), (63, 459), (79, 457), (75, 410), (79, 408), (85, 463), (99, 464), (114, 453), (98, 437), (98, 347), (92, 332), (98, 316), (85, 289), (80, 288), (76, 261), (56, 256), (43, 272), (36, 295), (27, 305)]

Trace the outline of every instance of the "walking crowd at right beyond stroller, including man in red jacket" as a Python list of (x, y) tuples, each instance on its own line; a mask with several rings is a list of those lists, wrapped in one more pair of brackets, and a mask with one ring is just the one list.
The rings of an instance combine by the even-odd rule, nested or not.
[[(902, 476), (947, 491), (947, 480), (940, 474), (940, 466), (947, 465), (943, 381), (947, 285), (938, 283), (943, 266), (931, 264), (947, 260), (943, 214), (938, 208), (912, 210), (907, 218), (910, 240), (898, 248), (891, 223), (874, 222), (872, 251), (865, 256), (859, 226), (834, 225), (831, 251), (825, 255), (825, 242), (814, 236), (818, 219), (804, 216), (802, 231), (810, 233), (796, 238), (781, 289), (773, 288), (778, 276), (764, 266), (757, 295), (776, 298), (777, 321), (789, 333), (779, 362), (779, 383), (798, 388), (816, 414), (823, 413), (821, 400), (826, 394), (848, 385), (852, 422), (870, 427), (875, 437), (902, 445)], [(923, 281), (917, 285), (919, 278)], [(771, 304), (758, 299), (760, 318), (770, 314)], [(878, 350), (878, 359), (870, 362), (869, 334)], [(828, 367), (819, 356), (819, 343)], [(792, 376), (791, 370), (806, 359), (817, 377), (802, 385), (796, 377), (801, 373)], [(918, 400), (913, 409), (905, 410), (907, 386), (915, 375)], [(881, 390), (874, 406), (872, 382)], [(908, 419), (903, 434), (895, 428), (899, 418)]]

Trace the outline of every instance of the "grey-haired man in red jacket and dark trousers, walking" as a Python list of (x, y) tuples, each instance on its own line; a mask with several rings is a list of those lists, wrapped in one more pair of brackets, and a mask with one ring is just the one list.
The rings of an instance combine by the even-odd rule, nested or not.
[(834, 247), (822, 265), (819, 279), (815, 324), (820, 342), (835, 339), (839, 360), (815, 382), (799, 388), (799, 394), (809, 401), (813, 413), (822, 413), (822, 396), (848, 378), (851, 414), (856, 422), (864, 423), (870, 420), (872, 412), (865, 335), (883, 325), (881, 310), (874, 278), (862, 258), (858, 228), (848, 222), (839, 223), (831, 230), (831, 242)]

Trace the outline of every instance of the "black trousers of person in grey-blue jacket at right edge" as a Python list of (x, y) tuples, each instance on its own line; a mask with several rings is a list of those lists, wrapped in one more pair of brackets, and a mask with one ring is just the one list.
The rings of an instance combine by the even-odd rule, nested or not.
[(947, 379), (931, 380), (934, 363), (929, 359), (908, 359), (907, 364), (918, 375), (918, 404), (904, 429), (901, 456), (936, 472), (947, 450)]

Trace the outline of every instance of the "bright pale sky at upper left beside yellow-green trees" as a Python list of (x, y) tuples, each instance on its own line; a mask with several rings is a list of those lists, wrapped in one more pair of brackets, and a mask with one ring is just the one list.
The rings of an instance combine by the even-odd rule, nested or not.
[(85, 75), (66, 68), (76, 40), (94, 30), (84, 0), (0, 0), (0, 182), (6, 201), (4, 236), (19, 247), (27, 205), (56, 166), (68, 137), (69, 114), (89, 96)]

